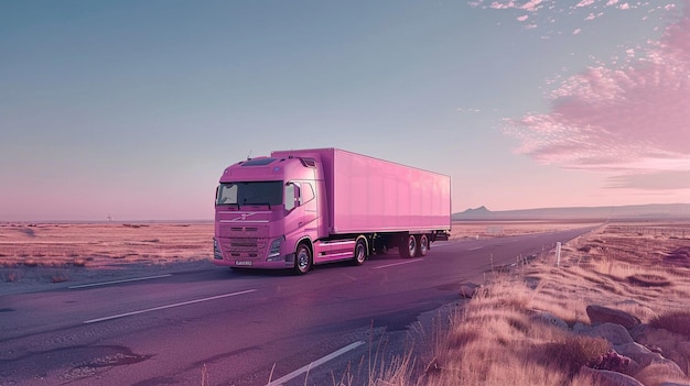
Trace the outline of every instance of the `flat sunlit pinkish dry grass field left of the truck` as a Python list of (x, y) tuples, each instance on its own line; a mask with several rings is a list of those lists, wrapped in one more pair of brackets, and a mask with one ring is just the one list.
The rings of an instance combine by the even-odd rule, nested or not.
[(207, 260), (213, 223), (0, 224), (0, 267)]

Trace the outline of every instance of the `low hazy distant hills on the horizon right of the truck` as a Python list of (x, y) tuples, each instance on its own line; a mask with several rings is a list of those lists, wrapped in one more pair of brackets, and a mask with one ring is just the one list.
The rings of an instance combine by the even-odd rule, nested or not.
[(690, 220), (690, 203), (650, 203), (621, 207), (570, 207), (490, 211), (482, 206), (453, 213), (455, 221), (490, 220)]

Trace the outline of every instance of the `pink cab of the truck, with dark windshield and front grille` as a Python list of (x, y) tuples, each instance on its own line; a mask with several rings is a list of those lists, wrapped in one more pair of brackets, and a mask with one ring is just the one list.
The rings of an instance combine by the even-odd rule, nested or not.
[(216, 190), (214, 263), (309, 271), (313, 242), (327, 234), (322, 190), (315, 158), (257, 157), (227, 167)]

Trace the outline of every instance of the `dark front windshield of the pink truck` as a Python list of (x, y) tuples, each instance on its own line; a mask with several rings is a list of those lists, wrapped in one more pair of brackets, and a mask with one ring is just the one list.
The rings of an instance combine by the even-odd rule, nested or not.
[(216, 205), (279, 206), (282, 194), (282, 181), (224, 183), (218, 186)]

